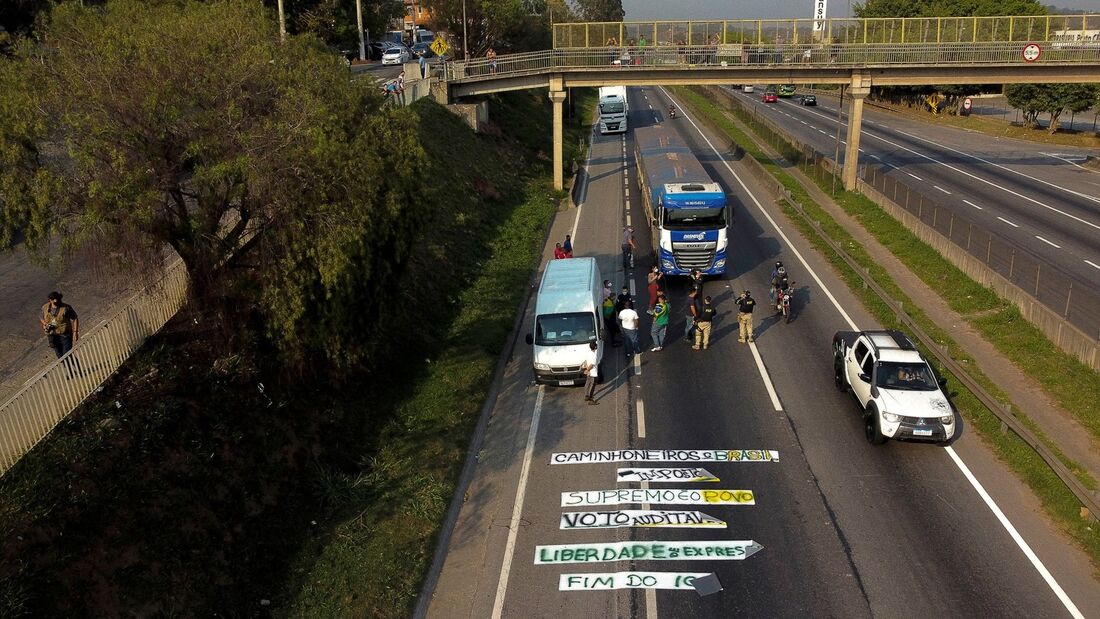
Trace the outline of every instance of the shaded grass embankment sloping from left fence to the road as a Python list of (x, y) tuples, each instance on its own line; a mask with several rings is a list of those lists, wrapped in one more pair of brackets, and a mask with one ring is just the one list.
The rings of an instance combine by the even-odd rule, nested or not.
[(0, 616), (408, 616), (562, 196), (544, 96), (494, 100), (487, 135), (411, 113), (437, 208), (407, 329), (436, 343), (331, 387), (177, 317), (0, 480)]

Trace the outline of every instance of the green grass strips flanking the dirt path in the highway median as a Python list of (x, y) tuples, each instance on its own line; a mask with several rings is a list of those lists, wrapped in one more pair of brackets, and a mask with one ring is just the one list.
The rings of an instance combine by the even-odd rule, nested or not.
[[(792, 195), (792, 199), (802, 205), (810, 218), (820, 223), (821, 233), (837, 242), (861, 268), (867, 269), (871, 278), (895, 300), (904, 303), (905, 311), (921, 325), (938, 344), (946, 346), (953, 358), (970, 368), (970, 375), (1001, 401), (1008, 401), (996, 385), (977, 367), (975, 360), (961, 350), (950, 335), (935, 324), (879, 266), (853, 236), (838, 224), (821, 206), (814, 202), (806, 189), (783, 167), (771, 159), (758, 145), (735, 124), (726, 113), (707, 97), (696, 90), (680, 88), (678, 95), (688, 101), (697, 113), (711, 124), (724, 131), (734, 142), (745, 150), (747, 156), (756, 159)], [(751, 126), (750, 114), (739, 113), (736, 106), (732, 112), (743, 122)], [(789, 145), (782, 147), (781, 154), (789, 161), (799, 163), (801, 154)], [(831, 179), (816, 180), (826, 191)], [(866, 197), (854, 192), (840, 192), (836, 202), (849, 214), (860, 221), (876, 239), (899, 257), (914, 274), (928, 286), (938, 291), (953, 309), (967, 316), (967, 320), (989, 339), (1010, 360), (1016, 363), (1032, 378), (1043, 384), (1062, 406), (1078, 414), (1082, 423), (1090, 430), (1098, 428), (1098, 399), (1100, 399), (1100, 377), (1084, 364), (1069, 355), (1054, 349), (1053, 344), (1031, 325), (1019, 311), (998, 298), (991, 290), (983, 288), (958, 270), (932, 247), (921, 242), (900, 222), (887, 214)], [(862, 274), (853, 270), (828, 244), (818, 236), (817, 230), (807, 223), (796, 210), (785, 201), (781, 207), (802, 234), (810, 240), (815, 248), (836, 268), (854, 294), (865, 307), (888, 328), (900, 328), (897, 314), (872, 290), (862, 285)], [(931, 357), (930, 357), (931, 358)], [(938, 364), (937, 364), (938, 365)], [(949, 374), (944, 367), (937, 371)], [(1000, 420), (978, 400), (959, 380), (952, 384), (954, 397), (952, 400), (967, 418), (969, 427), (990, 444), (994, 452), (1043, 501), (1047, 512), (1077, 540), (1092, 559), (1093, 565), (1100, 567), (1100, 528), (1084, 521), (1079, 516), (1077, 498), (1066, 488), (1050, 471), (1045, 462), (1019, 436), (1012, 432), (1002, 432)], [(1018, 416), (1040, 434), (1050, 445), (1059, 457), (1077, 473), (1089, 488), (1096, 488), (1096, 480), (1082, 472), (1080, 467), (1066, 458), (1049, 438), (1042, 434), (1034, 423), (1026, 420), (1021, 411)]]

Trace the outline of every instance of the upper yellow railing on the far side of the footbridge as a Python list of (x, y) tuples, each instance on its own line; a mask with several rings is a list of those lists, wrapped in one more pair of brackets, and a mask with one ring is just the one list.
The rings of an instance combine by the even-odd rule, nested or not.
[(714, 43), (842, 44), (1026, 43), (1100, 41), (1100, 15), (698, 20), (553, 24), (556, 49), (608, 45)]

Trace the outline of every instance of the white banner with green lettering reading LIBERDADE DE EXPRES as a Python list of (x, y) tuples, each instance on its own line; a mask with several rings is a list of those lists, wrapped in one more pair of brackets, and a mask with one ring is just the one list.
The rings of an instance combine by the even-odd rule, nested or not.
[(763, 550), (752, 540), (708, 542), (608, 542), (535, 546), (535, 564), (608, 561), (741, 561)]

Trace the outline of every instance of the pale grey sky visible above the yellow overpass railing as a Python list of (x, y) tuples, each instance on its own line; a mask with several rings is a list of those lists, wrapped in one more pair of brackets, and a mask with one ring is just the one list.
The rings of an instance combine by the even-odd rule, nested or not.
[[(828, 16), (844, 18), (854, 2), (828, 0)], [(1100, 13), (1100, 0), (1053, 0), (1064, 9)], [(623, 0), (627, 21), (756, 20), (813, 16), (814, 0)]]

